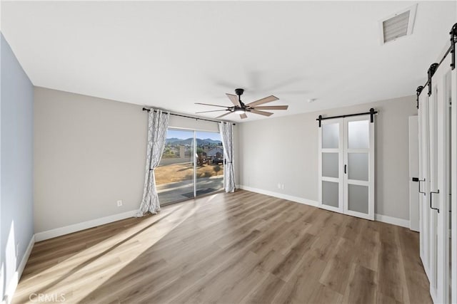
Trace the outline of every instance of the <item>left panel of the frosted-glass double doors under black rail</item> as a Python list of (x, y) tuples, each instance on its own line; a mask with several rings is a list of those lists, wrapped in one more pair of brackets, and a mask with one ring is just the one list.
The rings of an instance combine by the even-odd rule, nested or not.
[(343, 120), (323, 120), (319, 132), (319, 206), (343, 212)]

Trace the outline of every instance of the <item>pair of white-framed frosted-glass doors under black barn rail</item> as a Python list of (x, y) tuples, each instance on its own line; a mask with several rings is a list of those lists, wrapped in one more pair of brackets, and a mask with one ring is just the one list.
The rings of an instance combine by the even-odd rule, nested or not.
[(323, 120), (319, 127), (319, 206), (374, 219), (374, 123), (370, 115)]

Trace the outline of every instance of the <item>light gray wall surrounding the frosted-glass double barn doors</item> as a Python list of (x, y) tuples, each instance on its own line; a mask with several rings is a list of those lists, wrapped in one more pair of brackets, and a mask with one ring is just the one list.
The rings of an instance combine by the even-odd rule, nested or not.
[[(379, 110), (376, 117), (375, 213), (409, 219), (408, 117), (417, 115), (415, 96), (321, 112), (243, 122), (240, 184), (318, 201), (318, 115)], [(284, 184), (278, 189), (277, 184)]]

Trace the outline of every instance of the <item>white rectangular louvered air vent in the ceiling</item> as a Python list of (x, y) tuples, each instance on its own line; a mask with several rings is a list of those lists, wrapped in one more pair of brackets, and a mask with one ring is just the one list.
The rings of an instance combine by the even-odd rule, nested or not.
[(382, 44), (413, 33), (417, 4), (380, 21)]

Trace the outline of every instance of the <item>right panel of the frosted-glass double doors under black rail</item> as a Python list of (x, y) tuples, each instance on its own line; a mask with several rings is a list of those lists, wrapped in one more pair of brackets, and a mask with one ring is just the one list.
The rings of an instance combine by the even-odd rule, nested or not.
[(374, 220), (374, 123), (344, 118), (344, 214)]

